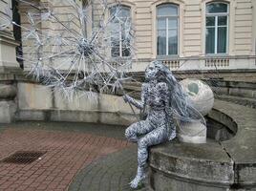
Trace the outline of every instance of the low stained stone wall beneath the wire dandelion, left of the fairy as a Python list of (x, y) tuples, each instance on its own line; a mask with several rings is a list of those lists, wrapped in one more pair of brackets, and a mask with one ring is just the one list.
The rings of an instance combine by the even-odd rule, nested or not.
[[(136, 120), (121, 96), (89, 96), (86, 92), (68, 99), (61, 91), (29, 82), (17, 83), (17, 120), (96, 122), (129, 125)], [(138, 111), (137, 111), (138, 112)]]

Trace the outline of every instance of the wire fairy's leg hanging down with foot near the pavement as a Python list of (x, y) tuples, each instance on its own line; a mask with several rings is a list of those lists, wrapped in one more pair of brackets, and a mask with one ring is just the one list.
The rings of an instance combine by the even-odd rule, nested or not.
[(166, 127), (158, 128), (139, 138), (138, 141), (138, 171), (134, 180), (131, 181), (131, 187), (137, 188), (139, 181), (145, 178), (145, 164), (148, 159), (148, 147), (168, 140)]

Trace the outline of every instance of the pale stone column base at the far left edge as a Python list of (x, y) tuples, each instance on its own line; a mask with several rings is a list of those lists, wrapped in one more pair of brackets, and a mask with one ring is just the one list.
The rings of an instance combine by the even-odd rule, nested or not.
[[(0, 2), (1, 16), (6, 13), (6, 9), (11, 10), (11, 0)], [(14, 40), (12, 26), (0, 31), (0, 123), (10, 123), (15, 118), (17, 91), (14, 74), (21, 71), (16, 61), (15, 48), (18, 45), (19, 43)]]

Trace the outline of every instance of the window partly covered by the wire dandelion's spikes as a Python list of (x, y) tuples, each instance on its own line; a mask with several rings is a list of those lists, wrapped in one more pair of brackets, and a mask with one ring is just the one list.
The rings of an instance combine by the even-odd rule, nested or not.
[(130, 56), (129, 30), (131, 26), (131, 9), (127, 6), (115, 6), (110, 10), (111, 15), (117, 13), (113, 20), (111, 35), (111, 55)]

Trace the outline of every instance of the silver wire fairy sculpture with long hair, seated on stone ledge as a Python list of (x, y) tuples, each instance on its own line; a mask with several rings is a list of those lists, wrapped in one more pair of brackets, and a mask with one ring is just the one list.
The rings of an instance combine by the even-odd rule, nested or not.
[(160, 61), (151, 62), (145, 70), (146, 83), (141, 87), (141, 100), (123, 96), (140, 110), (147, 108), (145, 120), (133, 123), (125, 131), (130, 141), (138, 142), (138, 170), (132, 188), (145, 178), (148, 147), (176, 138), (175, 120), (181, 123), (201, 121), (203, 116), (193, 107), (170, 70)]

